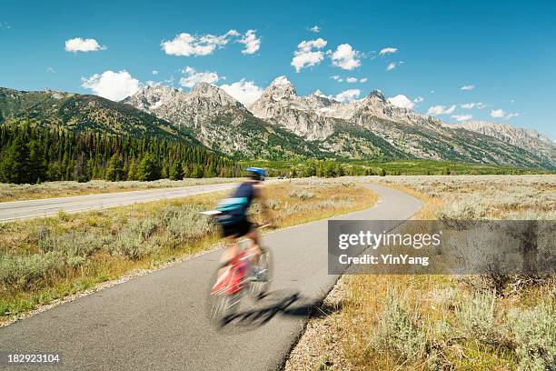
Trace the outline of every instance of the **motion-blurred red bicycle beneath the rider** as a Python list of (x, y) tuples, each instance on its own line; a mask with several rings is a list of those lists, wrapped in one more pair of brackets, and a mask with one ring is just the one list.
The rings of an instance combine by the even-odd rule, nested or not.
[[(265, 226), (257, 226), (263, 228)], [(245, 244), (240, 242), (240, 252), (225, 267), (226, 271), (218, 277), (216, 272), (211, 281), (211, 289), (207, 297), (207, 313), (209, 318), (220, 324), (226, 324), (233, 318), (234, 311), (239, 307), (246, 294), (253, 298), (261, 298), (268, 292), (272, 277), (272, 255), (263, 246), (261, 255), (255, 264), (253, 254), (248, 254)], [(218, 271), (218, 270), (217, 270)], [(256, 272), (256, 276), (253, 275)], [(214, 282), (216, 282), (214, 284)]]

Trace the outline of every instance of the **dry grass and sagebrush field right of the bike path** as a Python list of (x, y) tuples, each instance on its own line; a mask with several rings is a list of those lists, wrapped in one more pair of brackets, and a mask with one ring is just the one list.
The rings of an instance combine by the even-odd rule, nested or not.
[[(556, 216), (556, 176), (392, 176), (416, 219)], [(546, 276), (343, 276), (286, 369), (553, 370), (556, 281)]]

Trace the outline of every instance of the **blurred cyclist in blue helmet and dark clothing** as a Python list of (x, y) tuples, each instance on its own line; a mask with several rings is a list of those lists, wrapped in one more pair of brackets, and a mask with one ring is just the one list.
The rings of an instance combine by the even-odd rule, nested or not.
[[(217, 217), (217, 221), (222, 226), (223, 236), (228, 241), (220, 259), (218, 279), (215, 286), (221, 281), (223, 274), (226, 272), (226, 267), (239, 254), (238, 238), (245, 236), (251, 241), (249, 252), (252, 256), (252, 263), (256, 263), (262, 254), (261, 246), (259, 246), (259, 232), (247, 217), (247, 210), (253, 204), (253, 201), (258, 201), (262, 206), (265, 222), (269, 223), (271, 221), (268, 208), (264, 202), (263, 186), (261, 185), (266, 172), (259, 167), (248, 167), (246, 171), (250, 179), (237, 187), (232, 198), (222, 200), (218, 206), (218, 210), (222, 214)], [(253, 272), (253, 276), (256, 275), (257, 272)]]

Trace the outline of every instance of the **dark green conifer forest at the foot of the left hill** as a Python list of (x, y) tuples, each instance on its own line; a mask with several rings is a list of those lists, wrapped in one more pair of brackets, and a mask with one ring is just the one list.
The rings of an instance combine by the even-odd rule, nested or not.
[(0, 182), (5, 183), (177, 180), (241, 173), (226, 157), (159, 137), (0, 125)]

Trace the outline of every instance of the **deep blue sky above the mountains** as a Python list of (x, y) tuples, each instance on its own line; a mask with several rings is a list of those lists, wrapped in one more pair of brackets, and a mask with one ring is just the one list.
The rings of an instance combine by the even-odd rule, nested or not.
[(287, 75), (301, 95), (381, 89), (447, 122), (471, 115), (556, 138), (550, 1), (10, 1), (0, 48), (0, 85), (20, 90), (116, 99), (148, 81), (211, 81), (248, 101)]

